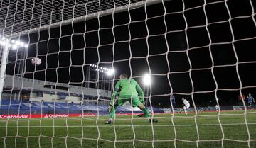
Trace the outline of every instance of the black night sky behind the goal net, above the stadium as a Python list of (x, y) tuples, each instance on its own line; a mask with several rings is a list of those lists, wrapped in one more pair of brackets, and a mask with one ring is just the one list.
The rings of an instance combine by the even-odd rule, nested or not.
[[(218, 3), (210, 4), (214, 1)], [(100, 66), (109, 67), (113, 64), (116, 78), (127, 73), (142, 84), (138, 76), (143, 76), (150, 69), (153, 104), (169, 106), (171, 91), (178, 93), (178, 103), (181, 96), (191, 101), (193, 88), (196, 105), (206, 106), (210, 101), (210, 105), (215, 104), (214, 90), (217, 86), (214, 74), (220, 106), (224, 106), (238, 103), (240, 81), (235, 65), (236, 52), (239, 62), (252, 62), (238, 64), (242, 87), (252, 86), (243, 88), (242, 93), (252, 93), (256, 97), (256, 27), (250, 1), (228, 1), (234, 39), (225, 2), (206, 2), (205, 15), (203, 0), (184, 0), (186, 21), (182, 1), (173, 0), (164, 4), (166, 15), (163, 4), (155, 4), (146, 6), (146, 13), (142, 7), (26, 35), (22, 39), (29, 40), (30, 46), (25, 76), (81, 85), (85, 79), (82, 71), (85, 72), (87, 65), (100, 63)], [(33, 67), (32, 57), (40, 57), (43, 64)], [(13, 73), (13, 65), (9, 64), (9, 74)], [(223, 65), (229, 66), (221, 67)], [(212, 66), (215, 66), (213, 71), (210, 69)]]

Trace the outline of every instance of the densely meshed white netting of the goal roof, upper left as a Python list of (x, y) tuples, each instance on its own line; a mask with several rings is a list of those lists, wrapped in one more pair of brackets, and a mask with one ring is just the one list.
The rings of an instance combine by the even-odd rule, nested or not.
[[(156, 0), (148, 1), (148, 4)], [(156, 1), (157, 2), (157, 1)], [(96, 18), (112, 11), (145, 4), (134, 1), (1, 1), (1, 33), (17, 35), (21, 32), (48, 29), (86, 18)]]

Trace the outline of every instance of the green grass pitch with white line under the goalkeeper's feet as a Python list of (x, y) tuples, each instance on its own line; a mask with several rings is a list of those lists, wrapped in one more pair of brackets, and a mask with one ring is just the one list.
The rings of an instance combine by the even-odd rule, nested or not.
[(107, 116), (0, 120), (0, 147), (256, 147), (255, 111), (154, 118), (159, 123), (151, 124), (136, 115), (119, 115), (111, 125), (104, 124)]

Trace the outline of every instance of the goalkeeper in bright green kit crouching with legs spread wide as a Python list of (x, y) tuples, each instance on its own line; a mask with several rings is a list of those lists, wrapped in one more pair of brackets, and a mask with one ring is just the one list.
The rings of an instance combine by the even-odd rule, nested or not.
[[(115, 110), (117, 106), (122, 106), (125, 102), (129, 101), (133, 107), (138, 107), (144, 113), (144, 116), (149, 118), (149, 122), (156, 123), (156, 119), (152, 119), (149, 115), (149, 111), (144, 106), (144, 93), (134, 79), (127, 79), (127, 74), (121, 74), (120, 80), (114, 87), (114, 92), (112, 93), (110, 106), (108, 108), (110, 112), (110, 118), (107, 120), (106, 124), (112, 123), (114, 118)], [(118, 98), (117, 98), (118, 93)], [(114, 99), (117, 98), (117, 99)]]

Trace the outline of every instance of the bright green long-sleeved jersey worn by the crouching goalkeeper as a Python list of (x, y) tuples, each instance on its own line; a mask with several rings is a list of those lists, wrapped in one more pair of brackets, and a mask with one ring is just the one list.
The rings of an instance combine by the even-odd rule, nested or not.
[(117, 81), (117, 84), (114, 87), (114, 93), (111, 96), (110, 105), (114, 102), (117, 93), (119, 98), (139, 96), (140, 100), (144, 102), (144, 92), (134, 79), (120, 79)]

